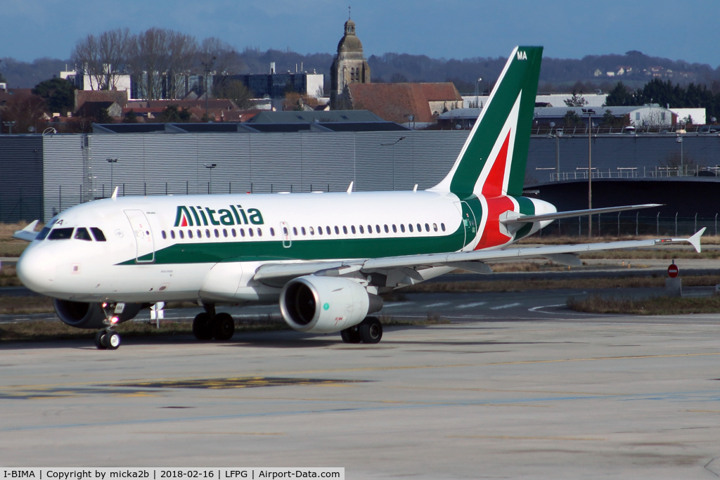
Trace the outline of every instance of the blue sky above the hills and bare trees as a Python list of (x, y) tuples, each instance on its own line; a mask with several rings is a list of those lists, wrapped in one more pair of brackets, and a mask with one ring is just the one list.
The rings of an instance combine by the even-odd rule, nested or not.
[(366, 56), (506, 56), (544, 45), (547, 57), (640, 50), (720, 64), (720, 1), (0, 0), (0, 57), (68, 58), (78, 38), (117, 27), (216, 36), (239, 50), (334, 53), (348, 3)]

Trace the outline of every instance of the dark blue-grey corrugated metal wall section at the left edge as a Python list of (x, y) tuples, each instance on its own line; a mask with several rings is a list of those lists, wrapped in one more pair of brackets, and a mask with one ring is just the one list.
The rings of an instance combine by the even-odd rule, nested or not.
[(0, 135), (0, 222), (42, 214), (42, 138)]

